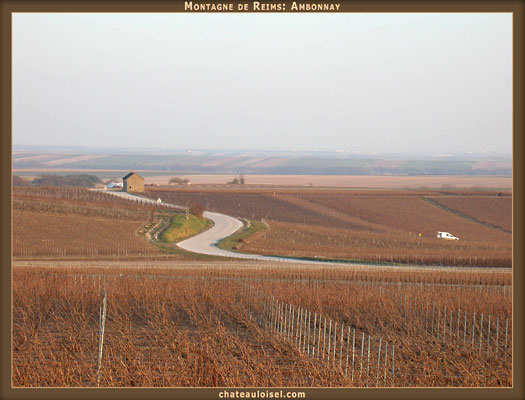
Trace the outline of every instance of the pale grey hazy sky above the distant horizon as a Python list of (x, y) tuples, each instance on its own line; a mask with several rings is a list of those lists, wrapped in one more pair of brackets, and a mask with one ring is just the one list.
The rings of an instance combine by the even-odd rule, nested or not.
[(13, 15), (13, 143), (512, 151), (512, 15)]

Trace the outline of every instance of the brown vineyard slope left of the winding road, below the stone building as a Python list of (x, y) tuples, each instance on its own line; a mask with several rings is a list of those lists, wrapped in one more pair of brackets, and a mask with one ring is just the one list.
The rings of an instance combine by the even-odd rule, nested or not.
[(13, 256), (122, 257), (159, 255), (139, 234), (155, 208), (77, 188), (15, 187)]

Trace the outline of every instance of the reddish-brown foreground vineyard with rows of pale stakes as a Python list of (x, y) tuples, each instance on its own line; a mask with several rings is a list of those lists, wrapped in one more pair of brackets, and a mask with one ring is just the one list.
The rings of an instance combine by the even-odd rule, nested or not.
[(512, 385), (510, 273), (61, 265), (14, 268), (16, 387)]

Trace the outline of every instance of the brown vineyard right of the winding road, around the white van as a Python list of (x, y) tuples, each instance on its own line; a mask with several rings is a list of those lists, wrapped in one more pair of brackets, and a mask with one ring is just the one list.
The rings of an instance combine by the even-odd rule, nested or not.
[[(267, 229), (243, 238), (236, 249), (240, 252), (378, 263), (512, 264), (512, 234), (504, 228), (512, 220), (510, 195), (203, 188), (150, 189), (146, 195), (182, 205), (198, 203), (211, 211), (264, 221)], [(481, 219), (485, 210), (483, 218), (492, 224)], [(437, 239), (437, 231), (451, 232), (460, 240)]]

